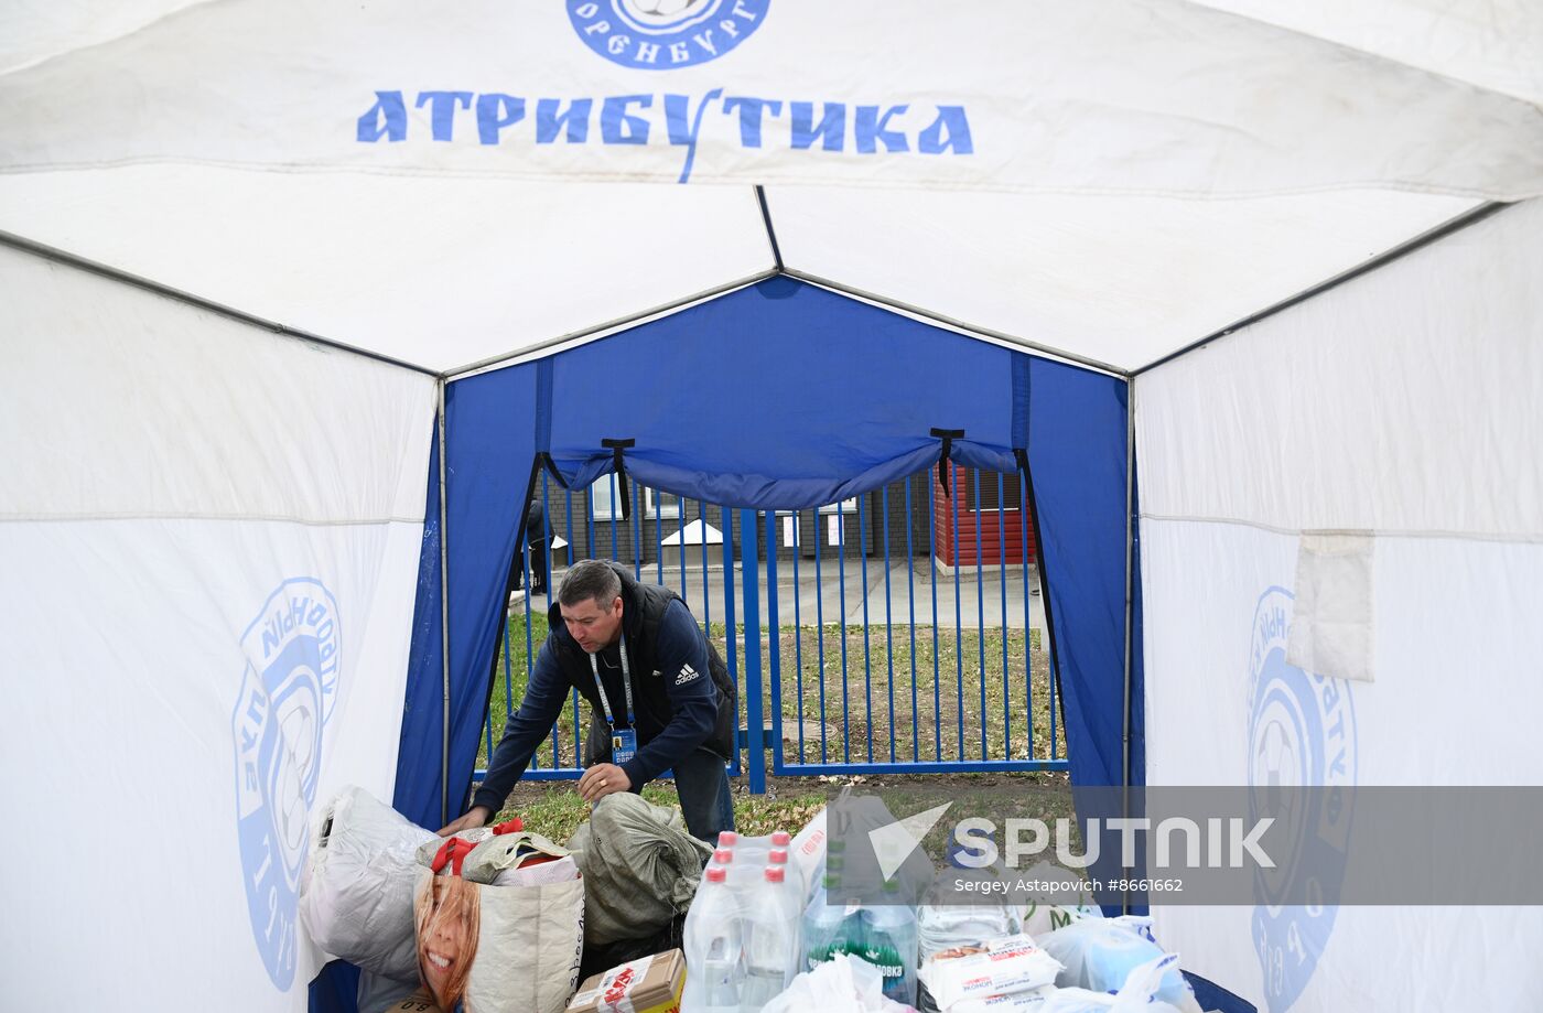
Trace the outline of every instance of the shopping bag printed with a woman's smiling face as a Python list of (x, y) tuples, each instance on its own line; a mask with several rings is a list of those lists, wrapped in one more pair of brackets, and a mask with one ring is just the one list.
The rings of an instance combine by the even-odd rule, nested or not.
[[(557, 882), (474, 882), (463, 871), (486, 843), (451, 837), (432, 866), (418, 871), (414, 922), (423, 984), (443, 1010), (461, 1002), (466, 1013), (562, 1013), (579, 984), (583, 880), (572, 872)], [(486, 876), (494, 863), (483, 865)], [(520, 865), (522, 872), (534, 868)]]

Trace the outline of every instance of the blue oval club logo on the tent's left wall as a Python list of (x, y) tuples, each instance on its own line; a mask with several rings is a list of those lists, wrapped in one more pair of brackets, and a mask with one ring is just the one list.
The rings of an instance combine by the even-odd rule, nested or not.
[(295, 982), (295, 916), (321, 775), (321, 732), (338, 698), (338, 604), (310, 578), (284, 581), (241, 635), (247, 667), (230, 715), (241, 882), (273, 985)]

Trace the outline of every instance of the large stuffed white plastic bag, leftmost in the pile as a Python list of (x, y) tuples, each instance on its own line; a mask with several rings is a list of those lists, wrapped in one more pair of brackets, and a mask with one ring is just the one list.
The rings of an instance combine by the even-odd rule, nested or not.
[(417, 851), (435, 834), (352, 784), (322, 806), (315, 826), (299, 889), (312, 942), (366, 971), (417, 981)]

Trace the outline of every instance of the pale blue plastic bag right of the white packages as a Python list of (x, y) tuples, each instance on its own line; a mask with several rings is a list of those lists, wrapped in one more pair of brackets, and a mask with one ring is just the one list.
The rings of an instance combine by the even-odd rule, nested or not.
[(1126, 914), (1116, 919), (1072, 922), (1040, 936), (1040, 945), (1066, 970), (1055, 976), (1062, 988), (1111, 993), (1125, 988), (1137, 971), (1160, 964), (1159, 982), (1151, 993), (1182, 1013), (1200, 1013), (1194, 990), (1179, 973), (1179, 960), (1163, 960), (1162, 947), (1153, 939), (1151, 919)]

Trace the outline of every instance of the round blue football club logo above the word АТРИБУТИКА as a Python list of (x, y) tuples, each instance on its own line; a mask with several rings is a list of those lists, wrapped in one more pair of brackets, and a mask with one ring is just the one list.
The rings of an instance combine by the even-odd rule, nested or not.
[(716, 60), (755, 34), (772, 0), (568, 0), (586, 46), (622, 66), (668, 71)]

